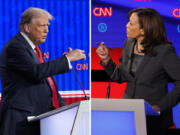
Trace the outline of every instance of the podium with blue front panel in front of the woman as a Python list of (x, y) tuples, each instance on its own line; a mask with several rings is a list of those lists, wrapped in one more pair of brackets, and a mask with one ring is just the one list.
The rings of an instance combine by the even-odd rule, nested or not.
[(91, 99), (92, 135), (147, 135), (146, 115), (159, 115), (143, 99)]

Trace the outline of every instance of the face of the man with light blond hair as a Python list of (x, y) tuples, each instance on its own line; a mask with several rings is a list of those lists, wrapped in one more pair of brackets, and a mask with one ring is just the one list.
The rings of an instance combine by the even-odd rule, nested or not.
[(38, 45), (46, 41), (49, 25), (50, 23), (47, 16), (36, 17), (28, 24), (28, 30), (25, 29), (25, 31), (33, 43)]

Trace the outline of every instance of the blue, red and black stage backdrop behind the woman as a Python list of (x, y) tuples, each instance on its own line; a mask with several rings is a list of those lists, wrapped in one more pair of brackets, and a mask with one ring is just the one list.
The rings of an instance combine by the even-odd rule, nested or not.
[[(91, 6), (91, 96), (105, 98), (109, 78), (99, 64), (95, 53), (96, 42), (104, 41), (111, 47), (110, 53), (115, 61), (121, 55), (126, 40), (127, 13), (133, 8), (150, 7), (163, 17), (168, 39), (173, 42), (180, 57), (180, 0), (92, 0)], [(180, 70), (180, 69), (179, 69)], [(126, 84), (111, 83), (110, 98), (121, 98)], [(169, 84), (169, 91), (173, 84)], [(180, 128), (180, 104), (174, 107), (174, 122)]]

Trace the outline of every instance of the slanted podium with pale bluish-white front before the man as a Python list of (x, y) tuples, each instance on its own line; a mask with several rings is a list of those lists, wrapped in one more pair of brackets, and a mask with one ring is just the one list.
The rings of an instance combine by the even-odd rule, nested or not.
[(41, 135), (90, 135), (89, 108), (85, 100), (27, 119), (40, 121)]

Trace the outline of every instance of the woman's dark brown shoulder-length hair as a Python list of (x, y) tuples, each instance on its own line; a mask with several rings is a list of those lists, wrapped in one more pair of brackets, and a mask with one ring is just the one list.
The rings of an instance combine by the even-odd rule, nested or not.
[(156, 10), (152, 8), (133, 9), (128, 13), (128, 19), (132, 13), (137, 14), (140, 28), (144, 30), (144, 39), (141, 42), (144, 47), (143, 53), (156, 55), (153, 47), (165, 43), (172, 44), (167, 40), (163, 19)]

